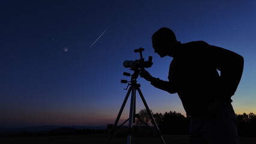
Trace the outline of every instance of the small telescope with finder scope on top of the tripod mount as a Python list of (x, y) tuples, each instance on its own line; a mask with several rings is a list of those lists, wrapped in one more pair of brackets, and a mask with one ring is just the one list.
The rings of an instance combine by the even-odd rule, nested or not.
[(126, 68), (149, 68), (153, 65), (152, 56), (148, 57), (148, 61), (144, 61), (142, 58), (143, 48), (135, 49), (134, 52), (140, 54), (141, 59), (136, 59), (135, 61), (124, 61), (124, 67)]

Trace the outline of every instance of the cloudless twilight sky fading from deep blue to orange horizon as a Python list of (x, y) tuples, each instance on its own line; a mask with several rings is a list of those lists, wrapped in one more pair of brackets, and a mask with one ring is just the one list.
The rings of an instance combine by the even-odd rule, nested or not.
[[(172, 58), (151, 48), (151, 35), (163, 26), (181, 43), (203, 40), (242, 55), (233, 106), (256, 113), (254, 0), (2, 0), (0, 16), (0, 127), (113, 124), (127, 93), (120, 80), (132, 72), (123, 62), (139, 59), (134, 49), (144, 47), (154, 63), (147, 70), (167, 80)], [(141, 77), (138, 83), (154, 113), (185, 115), (177, 94)], [(138, 97), (137, 112), (143, 108)]]

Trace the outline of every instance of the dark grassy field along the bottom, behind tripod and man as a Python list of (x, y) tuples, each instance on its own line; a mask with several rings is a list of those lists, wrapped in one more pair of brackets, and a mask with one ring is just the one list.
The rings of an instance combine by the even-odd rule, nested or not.
[[(105, 134), (94, 134), (87, 136), (40, 136), (40, 137), (0, 137), (1, 144), (52, 144), (52, 143), (62, 143), (62, 144), (103, 144), (106, 143), (108, 136)], [(163, 135), (166, 144), (187, 144), (188, 136), (186, 135)], [(256, 137), (240, 137), (240, 144), (255, 144)], [(120, 144), (126, 143), (126, 137), (112, 137), (109, 144)], [(161, 143), (159, 137), (132, 137), (133, 144), (142, 143)]]

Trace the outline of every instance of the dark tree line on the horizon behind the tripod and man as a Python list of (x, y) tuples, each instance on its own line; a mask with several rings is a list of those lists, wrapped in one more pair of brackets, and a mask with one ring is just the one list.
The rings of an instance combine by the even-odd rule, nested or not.
[[(146, 109), (139, 111), (139, 119), (151, 125), (151, 119)], [(256, 115), (254, 113), (237, 114), (238, 133), (243, 137), (256, 137)], [(178, 112), (153, 113), (153, 117), (163, 134), (188, 134), (190, 117)], [(144, 122), (136, 120), (137, 125), (145, 126)]]

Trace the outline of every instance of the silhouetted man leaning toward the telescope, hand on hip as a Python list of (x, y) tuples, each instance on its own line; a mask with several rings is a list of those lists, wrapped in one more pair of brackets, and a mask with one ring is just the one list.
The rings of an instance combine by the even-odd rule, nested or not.
[(147, 71), (141, 71), (140, 76), (156, 88), (178, 94), (187, 116), (191, 116), (189, 142), (238, 143), (231, 96), (242, 77), (243, 57), (204, 41), (181, 44), (169, 28), (160, 28), (151, 38), (155, 53), (173, 58), (169, 81)]

